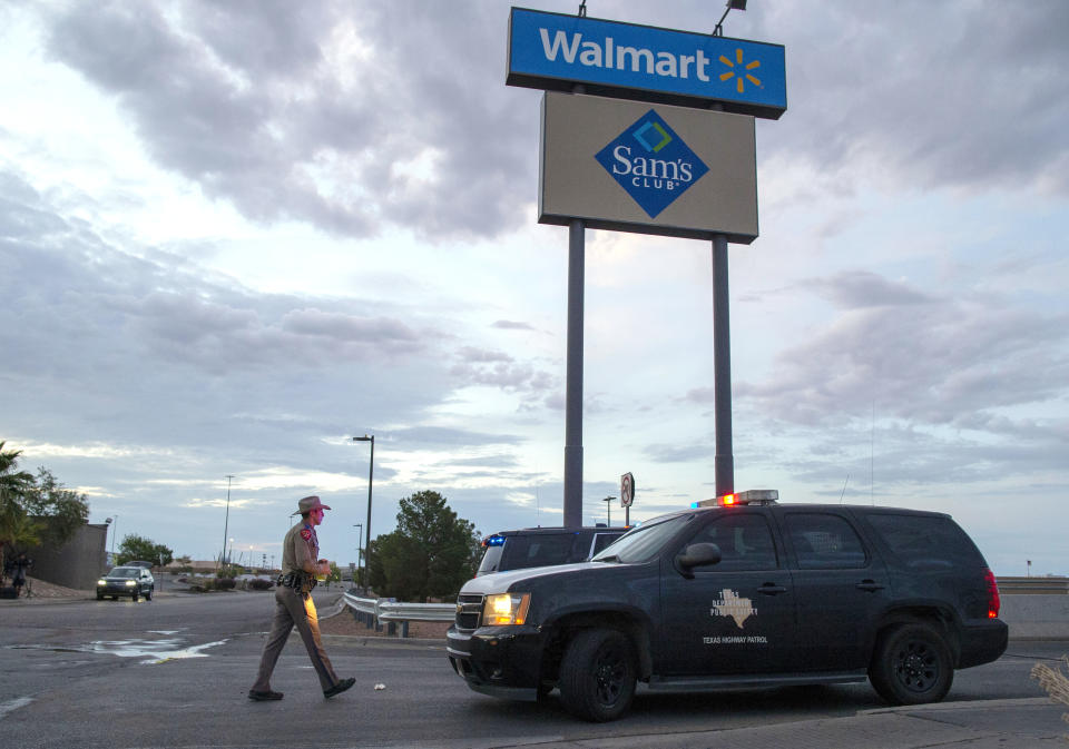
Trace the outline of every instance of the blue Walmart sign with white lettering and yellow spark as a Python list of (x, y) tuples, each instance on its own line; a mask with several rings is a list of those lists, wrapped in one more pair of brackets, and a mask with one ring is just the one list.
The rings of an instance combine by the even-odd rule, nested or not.
[(781, 45), (513, 8), (506, 82), (778, 119), (787, 108)]

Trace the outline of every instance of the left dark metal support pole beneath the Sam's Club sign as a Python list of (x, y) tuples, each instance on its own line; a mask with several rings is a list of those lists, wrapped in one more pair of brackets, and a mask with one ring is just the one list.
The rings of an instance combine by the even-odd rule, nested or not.
[(565, 528), (582, 526), (582, 306), (586, 223), (568, 225), (568, 362), (565, 391)]

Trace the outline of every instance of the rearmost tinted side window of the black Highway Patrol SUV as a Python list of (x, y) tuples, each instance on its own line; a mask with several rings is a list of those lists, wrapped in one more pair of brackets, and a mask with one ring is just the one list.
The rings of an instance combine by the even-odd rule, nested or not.
[(909, 568), (984, 566), (975, 544), (950, 518), (879, 513), (867, 520)]

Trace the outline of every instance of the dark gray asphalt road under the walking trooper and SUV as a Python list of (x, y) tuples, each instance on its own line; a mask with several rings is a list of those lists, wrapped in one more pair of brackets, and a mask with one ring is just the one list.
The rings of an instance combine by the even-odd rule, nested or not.
[[(321, 608), (335, 592), (317, 595)], [(578, 722), (555, 699), (506, 702), (470, 691), (442, 643), (326, 638), (349, 692), (324, 700), (294, 637), (252, 702), (269, 593), (164, 594), (154, 601), (0, 602), (0, 748), (509, 747), (853, 716), (884, 707), (867, 684), (696, 696), (640, 690), (608, 725)], [(947, 701), (1039, 698), (1029, 678), (1069, 642), (1011, 642), (959, 671)], [(385, 688), (376, 690), (376, 684)]]

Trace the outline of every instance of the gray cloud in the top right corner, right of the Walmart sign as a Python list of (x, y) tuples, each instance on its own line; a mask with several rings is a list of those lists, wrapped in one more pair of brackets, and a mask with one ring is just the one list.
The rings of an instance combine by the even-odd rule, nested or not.
[(900, 185), (1063, 194), (1066, 28), (1060, 0), (767, 7), (757, 38), (786, 46), (790, 109), (759, 124), (761, 150), (833, 177), (860, 162)]

